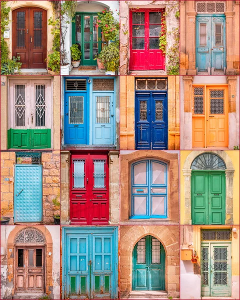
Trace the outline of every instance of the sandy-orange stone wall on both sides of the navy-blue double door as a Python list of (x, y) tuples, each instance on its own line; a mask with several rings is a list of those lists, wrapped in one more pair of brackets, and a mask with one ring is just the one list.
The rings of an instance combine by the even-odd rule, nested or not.
[[(135, 77), (121, 76), (120, 81), (120, 148), (135, 149)], [(137, 76), (151, 78), (152, 76)], [(168, 99), (168, 149), (180, 148), (180, 104), (179, 104), (179, 76), (167, 77)]]

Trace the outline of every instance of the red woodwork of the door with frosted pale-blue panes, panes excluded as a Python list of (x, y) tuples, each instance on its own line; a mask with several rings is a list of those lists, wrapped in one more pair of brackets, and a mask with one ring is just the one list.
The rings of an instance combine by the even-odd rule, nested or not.
[[(74, 160), (84, 161), (84, 187), (74, 187)], [(94, 160), (105, 161), (105, 187), (94, 187)], [(107, 225), (109, 220), (108, 152), (73, 152), (70, 156), (70, 221), (71, 224)]]

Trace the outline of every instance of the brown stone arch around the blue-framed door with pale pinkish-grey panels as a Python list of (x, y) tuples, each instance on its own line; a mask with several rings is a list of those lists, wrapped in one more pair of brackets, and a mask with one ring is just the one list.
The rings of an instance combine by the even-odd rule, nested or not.
[(156, 159), (168, 164), (168, 219), (179, 221), (178, 202), (178, 154), (161, 150), (137, 150), (120, 156), (121, 163), (121, 221), (128, 221), (130, 216), (131, 165), (142, 159)]

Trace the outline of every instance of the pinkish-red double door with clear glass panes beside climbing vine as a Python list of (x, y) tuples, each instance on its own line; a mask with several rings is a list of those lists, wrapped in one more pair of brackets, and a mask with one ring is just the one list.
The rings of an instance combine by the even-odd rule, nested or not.
[(159, 49), (163, 9), (130, 10), (130, 70), (165, 69)]

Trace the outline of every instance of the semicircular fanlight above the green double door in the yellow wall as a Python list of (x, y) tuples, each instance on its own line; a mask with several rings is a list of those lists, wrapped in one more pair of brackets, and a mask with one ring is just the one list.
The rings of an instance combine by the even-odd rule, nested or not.
[(192, 162), (193, 170), (224, 170), (226, 169), (224, 161), (213, 153), (202, 153)]

